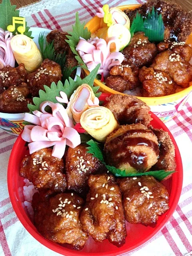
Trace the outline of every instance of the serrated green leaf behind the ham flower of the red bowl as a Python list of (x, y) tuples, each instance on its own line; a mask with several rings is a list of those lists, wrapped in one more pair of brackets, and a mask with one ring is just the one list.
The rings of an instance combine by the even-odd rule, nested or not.
[(96, 78), (96, 74), (99, 70), (99, 67), (100, 67), (100, 64), (98, 64), (96, 66), (96, 68), (94, 68), (94, 70), (92, 70), (92, 72), (90, 72), (90, 74), (83, 79), (81, 79), (79, 76), (77, 76), (76, 81), (74, 81), (71, 77), (69, 77), (69, 81), (65, 80), (64, 85), (61, 81), (59, 81), (58, 84), (56, 84), (55, 82), (52, 82), (50, 88), (48, 86), (44, 85), (45, 91), (39, 90), (39, 97), (33, 98), (34, 105), (28, 104), (27, 105), (28, 109), (30, 110), (30, 112), (39, 110), (39, 106), (40, 106), (41, 102), (43, 102), (45, 100), (49, 100), (51, 102), (58, 103), (58, 101), (56, 100), (55, 97), (56, 96), (60, 97), (61, 91), (65, 92), (67, 94), (67, 97), (69, 100), (70, 96), (74, 93), (74, 91), (82, 84), (88, 84), (89, 86), (92, 87), (92, 90), (94, 91), (95, 96), (96, 97), (100, 96), (100, 93), (97, 92), (99, 86), (96, 89), (93, 86), (94, 80)]

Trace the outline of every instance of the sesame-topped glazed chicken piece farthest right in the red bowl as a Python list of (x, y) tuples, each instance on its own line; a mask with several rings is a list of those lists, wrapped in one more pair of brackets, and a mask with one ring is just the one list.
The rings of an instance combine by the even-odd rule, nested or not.
[(154, 227), (168, 209), (166, 187), (152, 176), (118, 178), (126, 221)]

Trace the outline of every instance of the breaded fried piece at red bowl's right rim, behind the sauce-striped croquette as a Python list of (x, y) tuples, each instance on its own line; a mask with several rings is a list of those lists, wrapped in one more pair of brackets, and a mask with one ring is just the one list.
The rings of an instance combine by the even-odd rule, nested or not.
[(151, 129), (157, 136), (159, 143), (159, 158), (157, 163), (152, 167), (152, 169), (174, 171), (176, 168), (175, 147), (168, 132), (165, 132), (162, 129)]

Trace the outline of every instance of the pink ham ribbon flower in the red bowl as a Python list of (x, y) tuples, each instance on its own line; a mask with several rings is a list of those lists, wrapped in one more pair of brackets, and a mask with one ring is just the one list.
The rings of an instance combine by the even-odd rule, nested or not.
[[(46, 112), (46, 106), (51, 107), (52, 114)], [(22, 139), (30, 142), (30, 154), (54, 146), (52, 156), (62, 158), (66, 145), (75, 148), (81, 143), (80, 135), (74, 129), (66, 109), (59, 103), (44, 101), (40, 104), (40, 111), (26, 113), (24, 120), (34, 124), (26, 125), (22, 133)]]

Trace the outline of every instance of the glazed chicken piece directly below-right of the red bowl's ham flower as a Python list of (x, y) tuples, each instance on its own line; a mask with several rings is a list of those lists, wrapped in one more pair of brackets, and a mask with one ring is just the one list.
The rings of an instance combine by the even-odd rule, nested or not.
[[(66, 156), (66, 176), (68, 189), (85, 196), (88, 192), (87, 179), (90, 174), (104, 170), (104, 165), (87, 153), (88, 145), (80, 144), (76, 148), (68, 148)], [(80, 165), (81, 164), (81, 165)]]

